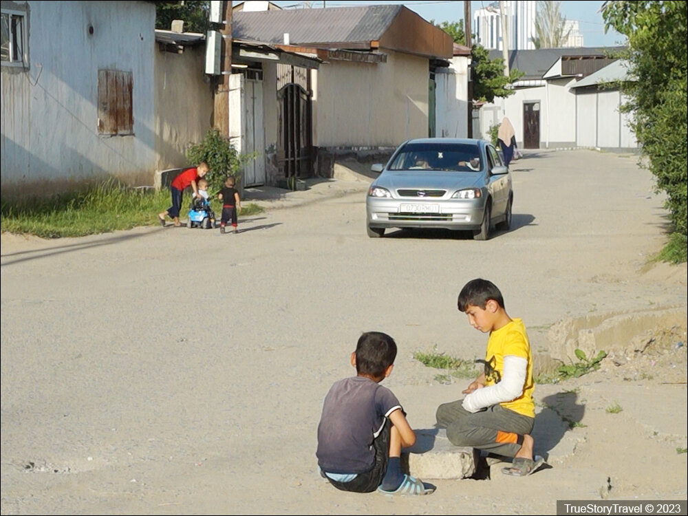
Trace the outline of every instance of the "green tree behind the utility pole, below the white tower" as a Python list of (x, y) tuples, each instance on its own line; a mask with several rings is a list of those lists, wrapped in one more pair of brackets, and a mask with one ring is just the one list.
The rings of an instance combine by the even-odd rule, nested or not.
[(473, 100), (494, 102), (495, 97), (508, 97), (514, 90), (508, 86), (521, 78), (524, 73), (511, 69), (509, 76), (504, 75), (504, 59), (491, 59), (489, 52), (481, 45), (471, 48), (473, 63)]

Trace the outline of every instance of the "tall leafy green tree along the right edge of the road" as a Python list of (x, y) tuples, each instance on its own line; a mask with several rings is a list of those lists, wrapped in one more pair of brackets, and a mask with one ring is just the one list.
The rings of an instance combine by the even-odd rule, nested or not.
[(673, 226), (670, 261), (686, 261), (688, 204), (688, 8), (685, 1), (605, 1), (602, 16), (628, 38), (625, 57), (631, 80), (621, 83), (627, 96), (623, 111), (647, 160), (641, 165), (667, 195)]

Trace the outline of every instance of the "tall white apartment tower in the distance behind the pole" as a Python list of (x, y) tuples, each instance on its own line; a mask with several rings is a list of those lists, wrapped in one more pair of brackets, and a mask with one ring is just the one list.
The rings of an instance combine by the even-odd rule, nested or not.
[[(537, 1), (504, 1), (508, 50), (533, 50)], [(502, 22), (499, 2), (473, 13), (475, 42), (488, 50), (502, 50)]]

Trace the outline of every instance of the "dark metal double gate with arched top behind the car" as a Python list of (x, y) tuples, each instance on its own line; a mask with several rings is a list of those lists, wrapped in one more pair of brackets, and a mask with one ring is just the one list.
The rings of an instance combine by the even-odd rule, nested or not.
[(312, 175), (312, 115), (310, 73), (292, 65), (277, 65), (279, 138), (277, 166), (291, 189), (296, 179)]

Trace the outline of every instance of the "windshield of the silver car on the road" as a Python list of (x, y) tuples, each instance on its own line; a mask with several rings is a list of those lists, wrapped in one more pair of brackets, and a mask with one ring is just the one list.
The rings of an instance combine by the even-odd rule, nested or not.
[(471, 144), (411, 143), (394, 156), (388, 170), (482, 170), (480, 149)]

